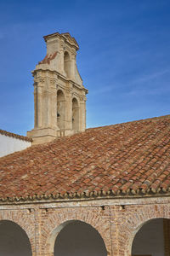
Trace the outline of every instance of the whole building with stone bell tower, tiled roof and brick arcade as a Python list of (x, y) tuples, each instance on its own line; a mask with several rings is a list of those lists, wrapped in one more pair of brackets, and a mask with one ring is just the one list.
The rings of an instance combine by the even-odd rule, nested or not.
[(77, 42), (45, 41), (37, 145), (0, 158), (0, 255), (169, 256), (170, 116), (85, 130)]

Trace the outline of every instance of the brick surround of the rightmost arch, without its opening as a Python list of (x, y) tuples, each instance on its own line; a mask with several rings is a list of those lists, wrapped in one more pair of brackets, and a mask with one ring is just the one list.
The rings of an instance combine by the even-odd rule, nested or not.
[(127, 215), (126, 221), (119, 230), (119, 243), (124, 244), (122, 254), (131, 256), (133, 239), (140, 228), (149, 220), (155, 218), (170, 218), (170, 207), (167, 205), (142, 206)]

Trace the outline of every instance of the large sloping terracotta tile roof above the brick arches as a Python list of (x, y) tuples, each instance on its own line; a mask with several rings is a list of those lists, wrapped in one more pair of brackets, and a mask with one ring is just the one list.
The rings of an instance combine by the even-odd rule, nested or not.
[(0, 159), (2, 201), (164, 195), (170, 115), (110, 125)]

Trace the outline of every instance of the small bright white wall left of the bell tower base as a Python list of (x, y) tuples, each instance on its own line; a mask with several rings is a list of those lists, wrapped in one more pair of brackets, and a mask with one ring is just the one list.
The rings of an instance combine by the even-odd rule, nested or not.
[(20, 140), (15, 137), (8, 137), (0, 134), (0, 157), (6, 154), (12, 154), (31, 146), (31, 142)]

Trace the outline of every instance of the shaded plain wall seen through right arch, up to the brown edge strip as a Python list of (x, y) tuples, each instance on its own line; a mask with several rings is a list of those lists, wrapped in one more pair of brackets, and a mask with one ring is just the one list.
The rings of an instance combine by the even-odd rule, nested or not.
[(139, 230), (133, 241), (133, 255), (164, 255), (163, 219), (156, 218)]

